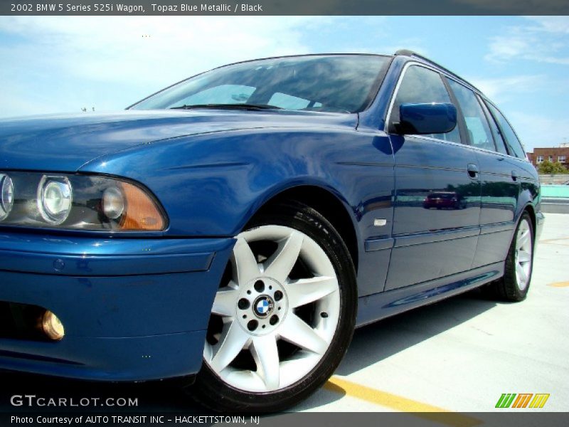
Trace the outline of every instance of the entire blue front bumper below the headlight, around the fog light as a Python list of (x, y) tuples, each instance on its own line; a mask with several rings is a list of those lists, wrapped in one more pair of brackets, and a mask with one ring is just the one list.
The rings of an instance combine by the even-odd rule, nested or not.
[(0, 233), (0, 301), (51, 310), (59, 342), (0, 338), (0, 368), (140, 381), (195, 374), (231, 238)]

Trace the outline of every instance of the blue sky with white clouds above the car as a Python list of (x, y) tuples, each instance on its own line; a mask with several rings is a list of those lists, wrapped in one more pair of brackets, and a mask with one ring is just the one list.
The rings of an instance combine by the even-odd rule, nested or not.
[(530, 151), (569, 142), (568, 16), (0, 16), (0, 117), (119, 110), (235, 60), (399, 48), (476, 85)]

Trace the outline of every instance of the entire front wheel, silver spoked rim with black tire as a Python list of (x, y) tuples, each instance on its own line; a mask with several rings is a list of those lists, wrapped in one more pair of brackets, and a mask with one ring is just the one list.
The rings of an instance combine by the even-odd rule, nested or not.
[(215, 411), (274, 412), (334, 373), (356, 323), (352, 255), (297, 201), (261, 209), (235, 237), (191, 394)]

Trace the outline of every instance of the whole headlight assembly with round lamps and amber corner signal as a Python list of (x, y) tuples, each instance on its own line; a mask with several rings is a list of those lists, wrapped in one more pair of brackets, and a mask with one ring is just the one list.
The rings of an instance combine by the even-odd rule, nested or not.
[(0, 173), (0, 189), (3, 225), (93, 231), (166, 228), (166, 216), (154, 196), (122, 179), (11, 172)]

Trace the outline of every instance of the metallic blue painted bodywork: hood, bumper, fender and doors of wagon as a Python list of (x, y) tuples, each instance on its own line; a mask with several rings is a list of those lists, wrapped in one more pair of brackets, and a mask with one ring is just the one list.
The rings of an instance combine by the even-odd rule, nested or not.
[[(0, 226), (0, 301), (52, 310), (66, 331), (60, 342), (0, 339), (0, 367), (114, 380), (195, 373), (233, 236), (288, 189), (328, 191), (350, 218), (343, 225), (356, 236), (360, 325), (499, 278), (523, 209), (541, 231), (536, 171), (503, 154), (384, 132), (409, 60), (393, 59), (359, 114), (0, 120), (1, 172), (121, 176), (144, 184), (169, 217), (165, 231), (126, 237)], [(441, 191), (464, 204), (426, 209), (425, 197)]]

